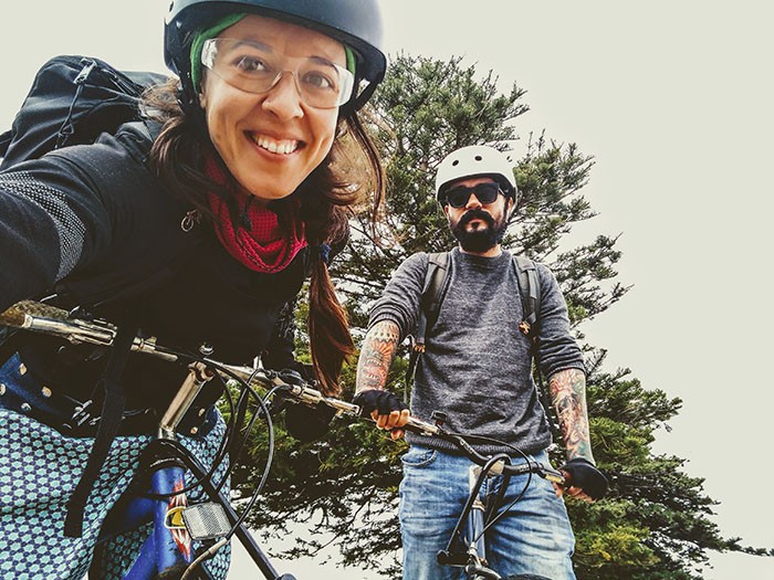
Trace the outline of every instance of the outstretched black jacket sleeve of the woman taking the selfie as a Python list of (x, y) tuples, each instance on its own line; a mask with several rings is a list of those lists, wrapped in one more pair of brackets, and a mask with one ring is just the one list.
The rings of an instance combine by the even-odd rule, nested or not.
[(101, 261), (124, 268), (117, 245), (148, 259), (170, 245), (147, 232), (172, 235), (179, 203), (147, 166), (147, 135), (129, 125), (0, 172), (0, 308)]

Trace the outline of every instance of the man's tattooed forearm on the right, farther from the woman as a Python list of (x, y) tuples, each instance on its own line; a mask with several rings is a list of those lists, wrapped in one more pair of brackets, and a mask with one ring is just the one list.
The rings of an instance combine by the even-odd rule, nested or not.
[(548, 379), (548, 389), (567, 447), (567, 458), (584, 457), (594, 462), (586, 412), (586, 376), (578, 369), (558, 371)]

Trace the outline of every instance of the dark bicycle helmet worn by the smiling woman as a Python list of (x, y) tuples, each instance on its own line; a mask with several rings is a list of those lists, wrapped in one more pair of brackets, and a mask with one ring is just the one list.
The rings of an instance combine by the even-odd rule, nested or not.
[[(257, 13), (326, 34), (356, 55), (355, 94), (342, 106), (357, 110), (385, 76), (381, 14), (377, 0), (172, 0), (164, 27), (164, 59), (182, 85), (184, 106), (196, 106), (190, 46), (197, 31), (229, 13)], [(358, 92), (359, 87), (359, 92)]]

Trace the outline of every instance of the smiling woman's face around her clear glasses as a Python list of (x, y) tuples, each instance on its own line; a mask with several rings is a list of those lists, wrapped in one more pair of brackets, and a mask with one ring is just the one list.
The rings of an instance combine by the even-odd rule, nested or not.
[[(346, 66), (339, 42), (270, 18), (248, 15), (219, 36), (257, 43), (289, 68), (325, 61)], [(268, 92), (252, 94), (202, 71), (200, 103), (207, 128), (231, 175), (263, 202), (290, 196), (331, 150), (338, 108), (306, 105), (291, 73)]]

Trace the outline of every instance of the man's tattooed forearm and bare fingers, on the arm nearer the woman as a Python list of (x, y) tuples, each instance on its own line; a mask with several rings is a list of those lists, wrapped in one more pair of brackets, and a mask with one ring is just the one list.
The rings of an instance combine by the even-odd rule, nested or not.
[[(366, 337), (363, 339), (360, 356), (357, 360), (357, 379), (356, 379), (356, 398), (366, 400), (364, 393), (367, 391), (384, 391), (387, 384), (387, 373), (393, 363), (395, 354), (398, 349), (399, 330), (398, 325), (390, 320), (383, 320), (374, 325)], [(387, 411), (385, 408), (395, 407), (391, 394), (386, 394), (379, 400), (381, 410), (374, 409), (370, 416), (376, 421), (376, 426), (390, 431), (393, 439), (399, 439), (404, 435), (401, 428), (408, 421), (408, 409), (393, 409)], [(375, 399), (370, 399), (375, 401)], [(402, 405), (401, 405), (402, 407)]]

